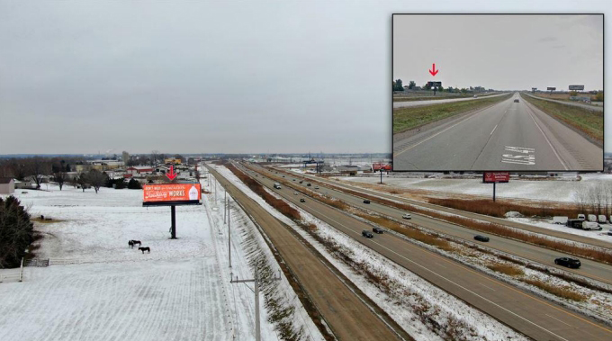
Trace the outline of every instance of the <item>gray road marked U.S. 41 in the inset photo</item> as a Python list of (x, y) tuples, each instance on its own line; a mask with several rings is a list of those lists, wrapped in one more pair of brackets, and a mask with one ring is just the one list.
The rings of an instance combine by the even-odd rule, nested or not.
[(516, 93), (491, 107), (394, 140), (393, 169), (601, 170), (603, 149)]

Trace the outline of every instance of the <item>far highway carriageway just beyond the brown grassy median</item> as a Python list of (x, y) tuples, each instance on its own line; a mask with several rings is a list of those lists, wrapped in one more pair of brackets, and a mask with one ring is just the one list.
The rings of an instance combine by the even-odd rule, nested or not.
[[(273, 177), (278, 176), (275, 174), (270, 174), (269, 172), (266, 175)], [(286, 175), (291, 178), (291, 175)], [(297, 178), (297, 176), (296, 176)], [(286, 177), (285, 177), (286, 179)], [(300, 179), (301, 180), (301, 179)], [(268, 185), (272, 187), (274, 180), (270, 180)], [(304, 182), (306, 184), (306, 182)], [(303, 184), (302, 184), (303, 185)], [(296, 186), (300, 186), (299, 182)], [(314, 188), (314, 187), (311, 187)], [(336, 198), (342, 200), (344, 202), (348, 202), (351, 205), (356, 207), (364, 208), (367, 210), (375, 211), (381, 213), (383, 215), (395, 218), (402, 219), (402, 215), (406, 213), (406, 211), (401, 211), (392, 206), (383, 205), (381, 203), (371, 201), (371, 203), (364, 203), (364, 198), (357, 197), (352, 194), (343, 193), (327, 186), (320, 185), (320, 189), (317, 190), (319, 193), (324, 193), (329, 195), (332, 198)], [(473, 229), (468, 229), (461, 227), (459, 225), (455, 225), (449, 222), (445, 222), (442, 220), (436, 220), (429, 218), (424, 215), (420, 215), (417, 213), (410, 212), (412, 214), (411, 222), (422, 226), (427, 229), (432, 229), (434, 231), (453, 236), (456, 238), (462, 238), (464, 240), (474, 241), (473, 237), (476, 234), (487, 236), (491, 238), (489, 243), (484, 243), (487, 247), (491, 247), (511, 255), (520, 256), (526, 258), (527, 260), (531, 260), (533, 262), (537, 262), (543, 265), (547, 265), (550, 267), (556, 267), (562, 269), (563, 271), (571, 272), (573, 274), (580, 274), (585, 277), (592, 278), (594, 280), (598, 280), (603, 283), (612, 284), (612, 266), (602, 264), (599, 262), (591, 261), (590, 259), (581, 259), (581, 268), (579, 269), (569, 269), (563, 267), (561, 265), (555, 265), (554, 259), (560, 256), (571, 256), (566, 255), (563, 252), (554, 251), (545, 247), (537, 247), (535, 245), (523, 243), (518, 240), (503, 238), (500, 236), (495, 236), (479, 231), (474, 231)]]

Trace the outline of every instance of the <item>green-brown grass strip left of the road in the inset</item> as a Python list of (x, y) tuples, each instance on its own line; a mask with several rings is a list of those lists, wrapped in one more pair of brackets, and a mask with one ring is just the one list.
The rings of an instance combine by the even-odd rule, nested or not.
[(433, 121), (444, 120), (459, 113), (484, 108), (491, 104), (509, 99), (512, 94), (473, 101), (432, 104), (418, 107), (398, 108), (393, 110), (393, 134), (419, 128)]

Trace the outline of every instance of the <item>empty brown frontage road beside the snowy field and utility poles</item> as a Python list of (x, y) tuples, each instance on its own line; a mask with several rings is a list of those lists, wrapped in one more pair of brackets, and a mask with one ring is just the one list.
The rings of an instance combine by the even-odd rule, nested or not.
[[(338, 279), (327, 265), (257, 202), (230, 184), (211, 167), (209, 171), (234, 200), (257, 221), (275, 245), (286, 265), (298, 278), (329, 328), (339, 340), (400, 340), (374, 315), (356, 293)], [(410, 339), (410, 338), (409, 338)]]

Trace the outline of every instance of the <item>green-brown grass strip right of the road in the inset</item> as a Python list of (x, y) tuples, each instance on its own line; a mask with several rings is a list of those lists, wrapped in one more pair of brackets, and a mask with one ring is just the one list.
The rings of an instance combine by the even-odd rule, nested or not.
[(582, 108), (580, 106), (554, 103), (522, 95), (528, 103), (534, 104), (537, 109), (546, 112), (559, 121), (578, 130), (581, 135), (587, 136), (591, 141), (603, 146), (604, 142), (604, 112)]

